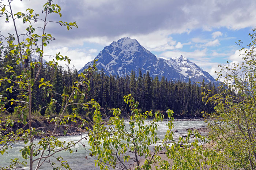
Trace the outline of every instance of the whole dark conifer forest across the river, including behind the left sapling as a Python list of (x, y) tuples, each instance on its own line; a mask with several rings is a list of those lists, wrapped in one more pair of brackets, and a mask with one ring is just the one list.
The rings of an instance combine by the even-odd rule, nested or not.
[[(14, 58), (1, 57), (0, 74), (5, 74), (3, 66), (14, 66), (16, 65), (15, 61)], [(27, 64), (29, 63), (28, 61)], [(16, 66), (14, 70), (19, 74), (19, 66)], [(36, 73), (37, 67), (33, 69), (31, 77), (33, 78)], [(6, 76), (8, 77), (8, 75)], [(53, 105), (47, 103), (50, 102), (50, 98), (61, 103), (63, 100), (61, 95), (68, 94), (71, 91), (70, 87), (78, 79), (78, 71), (68, 66), (65, 69), (61, 66), (57, 67), (57, 69), (46, 67), (42, 69), (40, 77), (44, 78), (45, 81), (52, 82), (54, 93), (49, 95), (47, 89), (39, 88), (39, 83), (36, 82), (38, 84), (33, 86), (33, 93), (37, 97), (33, 99), (33, 110), (36, 111), (43, 108), (40, 112), (42, 115), (58, 114), (61, 111), (61, 106), (55, 103)], [(0, 87), (1, 94), (7, 95), (9, 98), (19, 97), (18, 90), (14, 90), (12, 93), (6, 92), (5, 87), (7, 86), (7, 82), (2, 84)], [(79, 88), (81, 91), (86, 90), (83, 87)], [(105, 108), (107, 113), (109, 112), (107, 108), (120, 108), (126, 111), (129, 107), (124, 103), (123, 96), (132, 94), (135, 100), (139, 101), (138, 108), (141, 111), (172, 109), (176, 117), (201, 117), (202, 111), (213, 112), (213, 105), (205, 104), (202, 101), (202, 92), (211, 90), (211, 95), (218, 92), (215, 85), (211, 83), (205, 84), (203, 82), (199, 86), (199, 84), (192, 83), (190, 80), (189, 83), (173, 82), (166, 80), (164, 76), (152, 78), (148, 72), (142, 75), (141, 71), (138, 77), (136, 77), (134, 71), (131, 72), (131, 75), (119, 77), (108, 76), (101, 70), (90, 75), (90, 88), (85, 98), (78, 96), (73, 102), (87, 102), (95, 99), (102, 108)], [(80, 114), (86, 114), (82, 106), (75, 111)], [(8, 112), (15, 112), (14, 105), (8, 105)], [(67, 112), (74, 112), (71, 106), (69, 106)]]

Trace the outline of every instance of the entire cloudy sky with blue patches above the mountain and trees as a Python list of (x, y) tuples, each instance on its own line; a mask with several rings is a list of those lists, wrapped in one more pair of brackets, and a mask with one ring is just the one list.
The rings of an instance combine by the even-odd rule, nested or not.
[[(3, 3), (5, 0), (3, 1)], [(15, 0), (14, 10), (39, 11), (43, 0)], [(239, 39), (250, 42), (256, 26), (255, 0), (55, 0), (62, 17), (51, 20), (76, 21), (78, 29), (52, 24), (46, 29), (56, 41), (47, 54), (61, 52), (80, 69), (113, 41), (135, 38), (157, 57), (181, 54), (216, 78), (214, 71), (226, 61), (239, 62)], [(1, 34), (14, 33), (12, 23), (0, 18)], [(38, 24), (38, 23), (37, 23)], [(23, 24), (18, 28), (22, 30)]]

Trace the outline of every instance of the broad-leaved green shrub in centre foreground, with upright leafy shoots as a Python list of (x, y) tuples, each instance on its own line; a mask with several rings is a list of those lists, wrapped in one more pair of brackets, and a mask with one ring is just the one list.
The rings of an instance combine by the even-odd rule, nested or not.
[[(145, 124), (147, 117), (152, 117), (153, 113), (140, 114), (136, 109), (139, 103), (135, 102), (131, 95), (125, 96), (124, 101), (129, 103), (132, 112), (127, 126), (124, 124), (124, 119), (120, 118), (120, 109), (113, 109), (114, 117), (111, 117), (108, 126), (105, 126), (102, 124), (99, 107), (96, 108), (93, 118), (93, 134), (89, 137), (89, 144), (92, 147), (91, 155), (97, 158), (95, 165), (101, 169), (105, 169), (105, 164), (120, 169), (128, 169), (129, 165), (126, 165), (125, 162), (130, 159), (135, 161), (139, 167), (139, 156), (145, 156), (148, 163), (143, 166), (150, 169), (151, 164), (155, 161), (155, 155), (162, 151), (162, 147), (166, 146), (168, 140), (172, 140), (173, 132), (168, 131), (167, 136), (163, 139), (163, 144), (158, 145), (160, 139), (157, 136), (157, 122), (163, 120), (162, 114), (156, 112), (154, 120)], [(173, 112), (171, 110), (168, 110), (167, 113), (168, 117), (172, 117)], [(171, 129), (172, 121), (168, 122), (167, 126)], [(153, 153), (150, 151), (151, 145), (156, 145)], [(131, 158), (128, 151), (134, 152), (135, 158)]]

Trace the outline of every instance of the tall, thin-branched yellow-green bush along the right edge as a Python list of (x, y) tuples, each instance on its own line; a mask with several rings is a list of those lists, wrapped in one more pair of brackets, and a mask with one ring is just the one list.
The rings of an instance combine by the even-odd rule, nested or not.
[(216, 113), (209, 115), (210, 138), (217, 141), (229, 169), (256, 169), (256, 33), (249, 36), (248, 48), (238, 42), (242, 62), (221, 66), (225, 91), (208, 100), (216, 104)]

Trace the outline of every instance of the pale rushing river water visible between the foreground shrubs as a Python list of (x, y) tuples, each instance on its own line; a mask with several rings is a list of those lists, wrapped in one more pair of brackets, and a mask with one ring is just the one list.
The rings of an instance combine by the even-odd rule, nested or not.
[[(148, 121), (145, 122), (147, 124)], [(126, 122), (128, 124), (128, 122)], [(166, 122), (163, 121), (161, 123), (158, 123), (158, 136), (160, 139), (163, 138), (163, 136), (166, 134)], [(177, 140), (180, 136), (187, 134), (188, 128), (200, 128), (202, 126), (206, 126), (206, 123), (204, 121), (174, 121), (174, 128), (173, 130), (178, 130), (177, 133), (174, 133), (174, 139)], [(60, 141), (78, 141), (81, 139), (81, 136), (62, 136), (59, 137)], [(86, 149), (89, 150), (90, 146), (86, 140), (82, 141), (83, 144), (85, 145)], [(22, 141), (16, 143), (12, 149), (8, 150), (8, 154), (0, 155), (0, 166), (7, 166), (10, 163), (10, 159), (14, 158), (21, 158), (21, 153), (20, 149), (22, 149), (24, 146), (24, 143)], [(77, 149), (77, 152), (75, 152)], [(69, 166), (73, 170), (84, 170), (84, 169), (89, 169), (89, 170), (99, 170), (98, 167), (94, 166), (94, 158), (92, 158), (89, 153), (84, 150), (83, 146), (81, 143), (76, 145), (76, 148), (73, 149), (73, 153), (69, 154), (69, 152), (61, 152), (57, 156), (62, 156), (64, 160), (67, 160), (69, 163)], [(86, 157), (88, 160), (86, 160)], [(55, 161), (57, 162), (57, 161)], [(35, 166), (35, 165), (34, 165)], [(52, 167), (49, 165), (49, 163), (45, 163), (42, 167), (41, 170), (46, 170), (46, 169), (52, 169)]]

